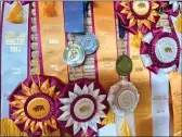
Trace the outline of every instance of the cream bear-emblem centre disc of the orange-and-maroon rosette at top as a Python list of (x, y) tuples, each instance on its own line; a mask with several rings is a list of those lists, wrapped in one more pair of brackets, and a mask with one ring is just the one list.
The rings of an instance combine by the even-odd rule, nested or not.
[(133, 12), (136, 15), (146, 15), (150, 11), (148, 1), (134, 1), (132, 4)]

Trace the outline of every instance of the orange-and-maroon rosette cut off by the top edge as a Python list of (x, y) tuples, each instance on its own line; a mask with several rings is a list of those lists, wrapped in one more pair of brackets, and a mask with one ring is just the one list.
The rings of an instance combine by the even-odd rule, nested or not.
[(146, 34), (159, 20), (159, 3), (152, 1), (115, 2), (115, 11), (123, 27), (136, 35)]

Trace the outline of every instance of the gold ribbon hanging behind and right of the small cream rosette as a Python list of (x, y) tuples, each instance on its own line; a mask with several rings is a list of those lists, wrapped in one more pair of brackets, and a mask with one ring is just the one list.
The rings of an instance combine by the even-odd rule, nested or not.
[[(129, 34), (129, 39), (132, 39), (132, 37), (133, 35)], [(140, 94), (140, 101), (134, 110), (135, 135), (153, 136), (150, 72), (143, 66), (140, 59), (140, 48), (131, 46), (130, 40), (129, 46), (130, 58), (133, 62), (130, 82), (134, 84)]]

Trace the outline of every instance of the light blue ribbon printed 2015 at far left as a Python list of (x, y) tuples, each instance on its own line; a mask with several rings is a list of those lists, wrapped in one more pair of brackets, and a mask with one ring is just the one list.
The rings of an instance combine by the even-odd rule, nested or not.
[[(1, 117), (9, 117), (8, 97), (14, 88), (28, 76), (28, 22), (11, 24), (5, 20), (13, 2), (3, 4), (1, 28)], [(22, 3), (23, 4), (23, 3)], [(24, 3), (25, 4), (25, 3)], [(24, 5), (29, 11), (29, 5)], [(28, 20), (28, 12), (25, 18)]]

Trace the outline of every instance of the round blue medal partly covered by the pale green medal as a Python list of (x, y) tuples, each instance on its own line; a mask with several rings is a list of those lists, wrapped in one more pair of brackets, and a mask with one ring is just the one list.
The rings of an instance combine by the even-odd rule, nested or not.
[(94, 53), (99, 47), (98, 38), (91, 33), (79, 36), (78, 43), (83, 47), (86, 54)]

